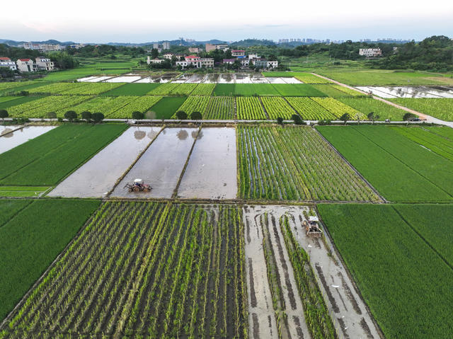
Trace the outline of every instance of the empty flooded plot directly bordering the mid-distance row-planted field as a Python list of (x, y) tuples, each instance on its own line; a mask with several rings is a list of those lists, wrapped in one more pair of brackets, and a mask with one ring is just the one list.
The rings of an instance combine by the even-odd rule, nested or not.
[(178, 197), (235, 199), (236, 129), (202, 128), (181, 180)]

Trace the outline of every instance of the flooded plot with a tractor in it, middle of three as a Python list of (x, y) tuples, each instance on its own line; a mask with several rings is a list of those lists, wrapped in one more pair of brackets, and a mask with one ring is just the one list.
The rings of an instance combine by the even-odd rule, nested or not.
[[(116, 186), (111, 197), (170, 198), (197, 137), (197, 128), (165, 128), (147, 151), (142, 154), (125, 178)], [(151, 185), (151, 192), (129, 193), (124, 188), (134, 179)]]

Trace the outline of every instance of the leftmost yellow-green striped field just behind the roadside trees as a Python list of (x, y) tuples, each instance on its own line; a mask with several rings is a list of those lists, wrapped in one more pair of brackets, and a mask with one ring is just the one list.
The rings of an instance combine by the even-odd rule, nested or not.
[(89, 100), (88, 96), (46, 96), (8, 108), (11, 117), (47, 117), (50, 112), (66, 110)]

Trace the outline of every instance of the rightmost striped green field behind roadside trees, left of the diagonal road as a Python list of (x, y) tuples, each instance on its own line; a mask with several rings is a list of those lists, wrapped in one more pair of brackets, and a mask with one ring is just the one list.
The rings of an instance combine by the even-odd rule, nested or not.
[(389, 119), (392, 121), (403, 121), (403, 116), (407, 113), (404, 110), (373, 98), (337, 98), (337, 100), (362, 112), (365, 117), (371, 112), (373, 112), (375, 116), (379, 115), (379, 119), (375, 118), (375, 120)]

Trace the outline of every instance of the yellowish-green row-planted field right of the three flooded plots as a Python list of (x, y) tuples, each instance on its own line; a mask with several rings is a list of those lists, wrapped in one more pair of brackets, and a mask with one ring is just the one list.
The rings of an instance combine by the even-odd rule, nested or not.
[(379, 200), (310, 127), (239, 126), (237, 132), (245, 199)]

